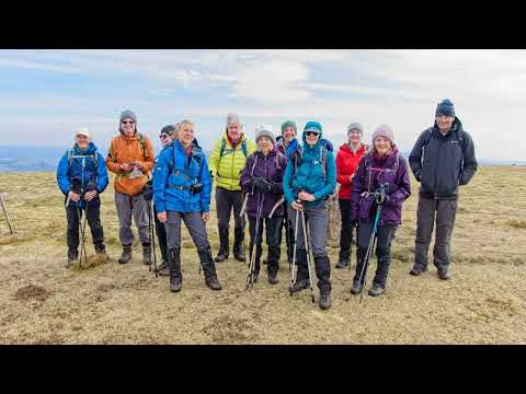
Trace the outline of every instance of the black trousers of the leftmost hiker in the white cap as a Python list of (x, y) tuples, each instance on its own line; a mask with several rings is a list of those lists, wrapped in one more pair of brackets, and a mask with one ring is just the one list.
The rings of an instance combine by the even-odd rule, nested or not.
[(88, 201), (87, 207), (83, 209), (77, 209), (77, 204), (70, 201), (66, 209), (66, 218), (68, 220), (67, 242), (68, 247), (71, 251), (77, 251), (79, 247), (79, 223), (82, 220), (85, 210), (85, 218), (90, 225), (91, 236), (93, 244), (104, 243), (104, 230), (101, 223), (101, 199), (95, 197), (91, 201)]

